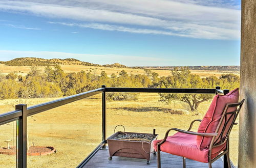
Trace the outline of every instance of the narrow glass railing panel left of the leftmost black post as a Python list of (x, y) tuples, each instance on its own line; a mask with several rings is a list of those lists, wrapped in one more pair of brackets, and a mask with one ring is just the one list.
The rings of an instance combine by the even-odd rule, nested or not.
[(16, 167), (16, 121), (0, 126), (0, 167)]

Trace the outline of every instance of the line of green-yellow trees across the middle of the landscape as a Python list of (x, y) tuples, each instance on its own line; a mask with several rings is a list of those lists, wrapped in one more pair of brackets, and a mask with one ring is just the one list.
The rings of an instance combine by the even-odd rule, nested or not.
[[(80, 71), (65, 73), (60, 66), (47, 66), (44, 72), (32, 66), (26, 76), (12, 72), (0, 74), (0, 99), (46, 98), (70, 96), (89, 90), (107, 87), (129, 88), (215, 88), (234, 89), (239, 87), (240, 78), (234, 74), (222, 74), (219, 78), (209, 76), (200, 78), (192, 74), (188, 67), (175, 68), (170, 75), (159, 77), (159, 74), (145, 69), (144, 74), (127, 74), (121, 70), (119, 75), (108, 76), (105, 71), (100, 75)], [(139, 93), (108, 93), (108, 100), (136, 100)], [(200, 103), (212, 98), (211, 94), (167, 94), (160, 93), (159, 101), (170, 103), (180, 100), (189, 105), (190, 110), (197, 110)]]

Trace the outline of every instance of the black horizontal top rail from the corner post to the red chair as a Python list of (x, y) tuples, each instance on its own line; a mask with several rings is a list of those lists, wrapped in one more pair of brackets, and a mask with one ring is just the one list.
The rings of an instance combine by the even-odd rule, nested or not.
[(216, 89), (183, 89), (183, 88), (105, 88), (105, 91), (106, 92), (144, 92), (144, 93), (198, 93), (198, 94), (215, 94), (216, 93)]

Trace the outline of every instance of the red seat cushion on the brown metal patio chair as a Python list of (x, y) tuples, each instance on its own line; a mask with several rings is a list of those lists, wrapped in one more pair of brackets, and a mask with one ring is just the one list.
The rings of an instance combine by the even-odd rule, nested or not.
[[(162, 140), (153, 141), (154, 149), (157, 151), (157, 143)], [(216, 157), (226, 147), (226, 144), (212, 149), (211, 157)], [(166, 141), (160, 145), (160, 150), (166, 153), (186, 157), (200, 162), (208, 162), (208, 149), (200, 150), (197, 147), (197, 135), (178, 132), (168, 136)]]

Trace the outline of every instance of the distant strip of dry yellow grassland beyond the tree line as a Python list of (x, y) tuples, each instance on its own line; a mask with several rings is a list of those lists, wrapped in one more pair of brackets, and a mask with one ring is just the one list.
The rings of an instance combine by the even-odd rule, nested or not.
[[(91, 72), (92, 74), (100, 75), (101, 71), (105, 71), (106, 74), (109, 76), (112, 73), (115, 73), (116, 75), (119, 75), (121, 70), (125, 70), (127, 74), (144, 74), (143, 69), (133, 69), (133, 68), (108, 68), (108, 67), (96, 67), (96, 66), (83, 66), (83, 65), (60, 65), (61, 68), (66, 73), (70, 72), (80, 72), (81, 70), (84, 70), (86, 72)], [(38, 67), (42, 72), (44, 71), (45, 67)], [(4, 74), (8, 74), (10, 72), (16, 72), (18, 75), (26, 75), (30, 71), (30, 66), (6, 66), (3, 64), (0, 64), (0, 72)], [(157, 72), (159, 76), (168, 76), (170, 75), (169, 70), (152, 70), (152, 72)], [(237, 71), (194, 71), (191, 70), (192, 73), (198, 74), (200, 77), (207, 77), (207, 76), (217, 76), (219, 77), (223, 73), (233, 73), (236, 75), (239, 75), (239, 72)]]

